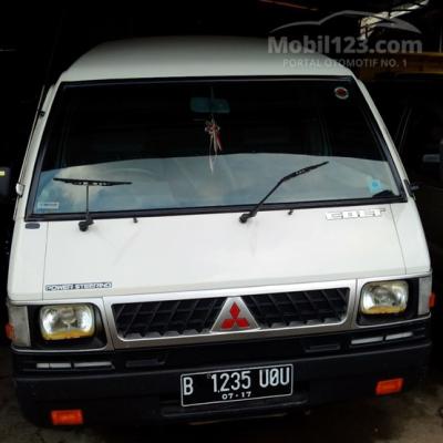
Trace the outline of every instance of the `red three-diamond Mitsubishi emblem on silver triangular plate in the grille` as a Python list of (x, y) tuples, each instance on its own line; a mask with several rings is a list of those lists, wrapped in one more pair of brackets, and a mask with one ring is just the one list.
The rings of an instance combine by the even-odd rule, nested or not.
[(230, 332), (258, 329), (258, 324), (241, 297), (225, 301), (212, 332)]

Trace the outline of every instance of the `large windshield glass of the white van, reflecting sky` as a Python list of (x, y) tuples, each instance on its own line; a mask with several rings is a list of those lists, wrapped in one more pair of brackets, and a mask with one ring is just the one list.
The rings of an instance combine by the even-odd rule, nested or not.
[(253, 206), (320, 162), (267, 205), (398, 196), (369, 115), (347, 79), (65, 84), (32, 212), (84, 212), (85, 189), (54, 178), (130, 182), (91, 188), (95, 213)]

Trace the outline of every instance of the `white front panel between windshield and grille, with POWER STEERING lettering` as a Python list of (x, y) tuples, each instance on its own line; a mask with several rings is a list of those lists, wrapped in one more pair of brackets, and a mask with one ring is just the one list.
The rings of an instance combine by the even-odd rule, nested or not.
[[(78, 222), (50, 222), (42, 296), (125, 296), (402, 275), (405, 264), (391, 207), (377, 206), (380, 215), (368, 216), (374, 208), (292, 215), (267, 210), (247, 224), (239, 223), (238, 213), (97, 219), (86, 233)], [(343, 218), (347, 210), (350, 216)]]

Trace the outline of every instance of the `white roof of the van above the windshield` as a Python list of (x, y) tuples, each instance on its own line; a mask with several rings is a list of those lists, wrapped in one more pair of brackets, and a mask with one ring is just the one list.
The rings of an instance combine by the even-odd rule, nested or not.
[[(278, 40), (277, 40), (278, 43)], [(60, 81), (243, 75), (352, 75), (317, 53), (270, 53), (267, 39), (143, 38), (102, 43), (82, 55)]]

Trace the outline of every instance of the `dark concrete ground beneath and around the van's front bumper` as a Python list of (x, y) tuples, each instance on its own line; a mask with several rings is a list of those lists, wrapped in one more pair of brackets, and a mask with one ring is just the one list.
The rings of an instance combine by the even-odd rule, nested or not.
[(8, 350), (0, 348), (1, 443), (141, 443), (174, 440), (205, 443), (340, 442), (442, 443), (443, 365), (427, 381), (395, 396), (323, 406), (309, 415), (290, 414), (233, 423), (136, 429), (38, 429), (19, 411)]

